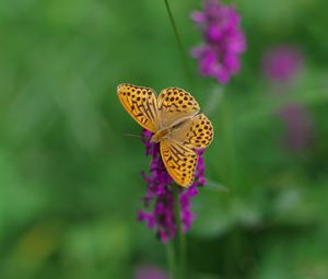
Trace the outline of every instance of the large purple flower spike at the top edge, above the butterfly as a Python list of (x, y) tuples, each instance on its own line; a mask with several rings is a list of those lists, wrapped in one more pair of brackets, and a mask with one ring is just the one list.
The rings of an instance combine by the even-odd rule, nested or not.
[(206, 0), (203, 12), (194, 12), (191, 18), (203, 35), (203, 44), (191, 49), (199, 60), (199, 72), (226, 83), (241, 70), (239, 56), (246, 49), (241, 18), (233, 5), (221, 1)]

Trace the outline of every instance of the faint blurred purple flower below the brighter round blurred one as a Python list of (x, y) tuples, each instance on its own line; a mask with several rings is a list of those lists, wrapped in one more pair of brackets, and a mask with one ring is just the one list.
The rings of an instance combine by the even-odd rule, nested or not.
[(303, 151), (313, 140), (313, 125), (306, 108), (300, 104), (283, 106), (278, 116), (284, 121), (285, 143), (293, 151)]

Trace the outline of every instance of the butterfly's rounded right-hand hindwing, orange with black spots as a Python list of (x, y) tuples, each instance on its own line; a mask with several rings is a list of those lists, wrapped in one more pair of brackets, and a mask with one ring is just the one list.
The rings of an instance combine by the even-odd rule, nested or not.
[(199, 114), (181, 123), (171, 138), (185, 148), (204, 149), (213, 139), (213, 126), (204, 114)]

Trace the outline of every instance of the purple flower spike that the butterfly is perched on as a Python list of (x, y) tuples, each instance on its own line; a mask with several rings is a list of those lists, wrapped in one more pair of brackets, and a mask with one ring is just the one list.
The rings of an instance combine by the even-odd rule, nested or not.
[[(150, 176), (142, 172), (143, 179), (148, 183), (148, 189), (143, 197), (143, 204), (147, 208), (154, 204), (152, 211), (140, 210), (138, 220), (145, 222), (147, 226), (154, 229), (163, 243), (175, 237), (176, 222), (174, 216), (174, 196), (172, 185), (173, 179), (166, 172), (165, 165), (161, 158), (160, 144), (150, 142), (152, 133), (148, 130), (142, 132), (142, 141), (145, 146), (145, 154), (151, 155)], [(187, 232), (191, 226), (196, 216), (190, 211), (190, 198), (198, 194), (198, 186), (206, 184), (203, 172), (204, 164), (202, 159), (203, 150), (198, 150), (198, 164), (195, 172), (192, 185), (183, 189), (179, 187), (179, 204), (183, 232)]]

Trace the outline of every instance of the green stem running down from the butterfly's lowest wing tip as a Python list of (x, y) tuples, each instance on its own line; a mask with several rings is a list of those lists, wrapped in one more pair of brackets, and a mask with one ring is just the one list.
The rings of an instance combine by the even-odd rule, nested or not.
[(186, 271), (187, 271), (186, 270), (187, 246), (186, 246), (186, 237), (181, 226), (179, 187), (177, 185), (173, 186), (173, 195), (174, 195), (174, 213), (176, 220), (176, 240), (177, 240), (176, 244), (177, 244), (177, 255), (178, 255), (177, 278), (184, 279), (186, 278)]

